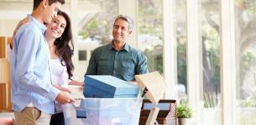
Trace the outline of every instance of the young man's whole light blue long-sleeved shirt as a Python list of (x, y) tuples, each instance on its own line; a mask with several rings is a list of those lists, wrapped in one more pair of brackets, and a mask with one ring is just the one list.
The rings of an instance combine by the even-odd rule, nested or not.
[(50, 51), (44, 39), (46, 27), (32, 16), (13, 38), (11, 80), (13, 110), (20, 112), (33, 105), (42, 112), (55, 112), (55, 97), (60, 90), (50, 79)]

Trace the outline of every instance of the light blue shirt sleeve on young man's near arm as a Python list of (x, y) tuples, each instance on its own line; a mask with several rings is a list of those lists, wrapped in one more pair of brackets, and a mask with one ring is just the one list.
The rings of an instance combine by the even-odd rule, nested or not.
[[(33, 31), (34, 28), (26, 28), (21, 31), (19, 37), (15, 37), (17, 47), (16, 62), (16, 78), (19, 82), (19, 87), (24, 90), (28, 89), (31, 92), (36, 92), (47, 97), (50, 100), (55, 100), (60, 90), (53, 87), (50, 82), (44, 82), (37, 74), (34, 73), (34, 62), (36, 59), (36, 52), (39, 48), (41, 34)], [(15, 40), (14, 40), (15, 41)]]

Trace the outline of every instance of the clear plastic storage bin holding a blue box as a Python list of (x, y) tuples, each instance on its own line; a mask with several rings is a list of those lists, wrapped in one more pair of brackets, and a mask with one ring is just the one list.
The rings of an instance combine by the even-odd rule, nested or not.
[[(143, 98), (85, 98), (80, 107), (63, 105), (65, 125), (138, 125)], [(86, 118), (76, 118), (76, 108)]]

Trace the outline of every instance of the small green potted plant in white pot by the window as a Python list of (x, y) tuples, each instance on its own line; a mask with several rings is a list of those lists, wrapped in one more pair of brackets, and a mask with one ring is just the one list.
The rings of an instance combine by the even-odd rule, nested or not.
[(182, 103), (177, 107), (177, 117), (179, 118), (179, 125), (189, 125), (189, 120), (192, 116), (192, 110), (187, 104)]

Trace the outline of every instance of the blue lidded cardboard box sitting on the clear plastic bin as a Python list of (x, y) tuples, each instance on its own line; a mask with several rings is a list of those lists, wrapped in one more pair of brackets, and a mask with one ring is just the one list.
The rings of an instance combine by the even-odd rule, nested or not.
[(138, 97), (139, 89), (130, 82), (109, 75), (87, 75), (85, 97)]

